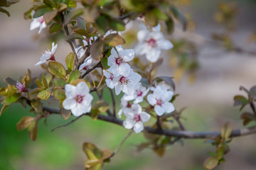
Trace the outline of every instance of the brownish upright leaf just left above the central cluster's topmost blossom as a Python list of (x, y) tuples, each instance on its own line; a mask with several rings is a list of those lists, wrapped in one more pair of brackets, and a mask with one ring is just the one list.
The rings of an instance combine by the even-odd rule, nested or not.
[(100, 60), (102, 58), (104, 44), (104, 41), (98, 39), (92, 43), (92, 46), (90, 47), (90, 54), (92, 58), (95, 60)]

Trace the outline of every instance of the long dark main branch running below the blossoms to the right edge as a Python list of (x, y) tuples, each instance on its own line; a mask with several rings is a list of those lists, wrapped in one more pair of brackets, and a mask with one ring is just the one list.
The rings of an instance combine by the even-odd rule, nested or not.
[[(60, 114), (60, 111), (52, 108), (43, 108), (44, 111), (48, 111), (48, 113), (57, 113)], [(89, 115), (90, 113), (84, 114)], [(97, 119), (104, 120), (105, 122), (114, 123), (117, 125), (121, 125), (123, 120), (119, 118), (114, 118), (113, 116), (107, 116), (99, 114)], [(220, 132), (192, 132), (192, 131), (181, 131), (181, 130), (159, 130), (158, 128), (145, 127), (144, 130), (149, 133), (157, 134), (157, 135), (166, 135), (171, 137), (181, 137), (186, 139), (208, 139), (213, 138), (220, 135)], [(233, 130), (230, 137), (240, 137), (245, 135), (252, 135), (256, 133), (256, 126), (244, 129)]]

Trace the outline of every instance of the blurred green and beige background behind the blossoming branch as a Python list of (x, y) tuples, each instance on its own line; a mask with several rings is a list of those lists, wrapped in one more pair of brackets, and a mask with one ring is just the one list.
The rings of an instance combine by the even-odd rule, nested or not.
[[(243, 94), (239, 91), (241, 85), (249, 89), (256, 83), (256, 55), (223, 52), (219, 45), (207, 43), (211, 33), (223, 29), (213, 21), (218, 2), (197, 0), (183, 6), (181, 11), (191, 13), (196, 30), (186, 33), (175, 31), (171, 35), (171, 38), (194, 38), (199, 48), (200, 67), (196, 72), (196, 80), (191, 84), (186, 75), (180, 81), (174, 79), (176, 94), (180, 94), (174, 104), (177, 109), (186, 107), (181, 121), (187, 130), (220, 130), (226, 121), (233, 123), (235, 128), (242, 128), (239, 108), (233, 107), (233, 96)], [(256, 3), (249, 0), (232, 2), (239, 8), (233, 40), (246, 50), (256, 51), (255, 43), (247, 40), (256, 30)], [(40, 74), (41, 69), (34, 64), (38, 62), (41, 53), (50, 48), (50, 42), (46, 41), (44, 34), (46, 32), (38, 35), (36, 30), (29, 30), (31, 21), (23, 19), (23, 12), (28, 10), (29, 3), (23, 0), (11, 6), (8, 9), (11, 17), (0, 13), (0, 86), (5, 84), (2, 81), (4, 77), (18, 79), (26, 68), (31, 69), (33, 77)], [(68, 43), (58, 42), (58, 61), (63, 62), (69, 52)], [(169, 67), (168, 61), (169, 55), (166, 53), (158, 75), (174, 75), (174, 69)], [(108, 94), (105, 95), (107, 97)], [(0, 169), (84, 169), (86, 156), (82, 152), (83, 142), (93, 142), (101, 149), (114, 150), (128, 132), (117, 125), (94, 121), (89, 117), (80, 118), (68, 127), (51, 132), (73, 117), (63, 120), (60, 115), (50, 115), (46, 125), (41, 121), (38, 139), (32, 142), (26, 130), (16, 130), (16, 123), (24, 115), (32, 115), (28, 110), (14, 104), (0, 117)], [(225, 156), (225, 164), (216, 169), (256, 169), (255, 140), (256, 135), (235, 138), (230, 144), (230, 153)], [(203, 143), (204, 140), (184, 140), (183, 145), (176, 143), (168, 147), (164, 157), (160, 158), (150, 149), (136, 152), (136, 146), (145, 141), (142, 134), (133, 134), (103, 169), (203, 169), (207, 152), (215, 149)]]

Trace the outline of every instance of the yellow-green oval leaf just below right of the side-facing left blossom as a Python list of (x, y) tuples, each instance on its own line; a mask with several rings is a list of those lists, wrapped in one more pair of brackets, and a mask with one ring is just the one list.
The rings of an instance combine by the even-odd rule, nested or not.
[(53, 75), (55, 75), (56, 77), (60, 78), (60, 79), (64, 79), (66, 72), (65, 72), (65, 67), (63, 66), (63, 64), (60, 64), (60, 62), (53, 62), (50, 61), (48, 63), (48, 67), (49, 67), (49, 72)]

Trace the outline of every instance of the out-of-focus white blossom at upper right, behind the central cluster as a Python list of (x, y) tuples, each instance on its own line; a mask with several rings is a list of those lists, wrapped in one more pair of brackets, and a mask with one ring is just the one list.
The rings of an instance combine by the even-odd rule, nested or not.
[(137, 33), (139, 44), (135, 51), (137, 55), (146, 55), (149, 62), (156, 62), (160, 57), (161, 50), (169, 50), (174, 47), (169, 40), (164, 39), (164, 35), (159, 28), (159, 26), (156, 26), (151, 32), (143, 29)]

